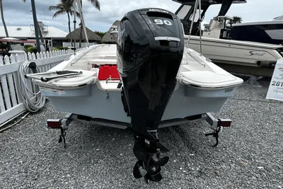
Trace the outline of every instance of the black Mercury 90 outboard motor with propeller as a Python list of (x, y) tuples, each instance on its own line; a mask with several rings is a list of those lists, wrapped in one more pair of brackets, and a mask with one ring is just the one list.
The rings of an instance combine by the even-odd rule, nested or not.
[[(168, 149), (159, 143), (157, 129), (176, 85), (183, 58), (184, 33), (180, 19), (160, 8), (130, 11), (117, 34), (117, 69), (122, 79), (122, 101), (131, 117), (137, 164), (134, 177), (146, 183), (161, 181), (160, 159)], [(156, 154), (157, 160), (153, 159)]]

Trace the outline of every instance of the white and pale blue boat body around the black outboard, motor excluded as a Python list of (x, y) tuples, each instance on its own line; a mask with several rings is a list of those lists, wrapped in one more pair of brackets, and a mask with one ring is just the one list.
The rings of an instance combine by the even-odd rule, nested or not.
[[(117, 45), (93, 45), (71, 55), (47, 73), (29, 76), (35, 78), (33, 83), (40, 86), (42, 95), (58, 111), (129, 123), (131, 118), (121, 101), (122, 88), (117, 88), (120, 79), (117, 78), (116, 49)], [(92, 64), (102, 67), (92, 68)], [(82, 71), (82, 74), (69, 77), (56, 74), (66, 70)], [(47, 82), (40, 80), (52, 76), (59, 77)], [(176, 79), (178, 84), (162, 120), (219, 111), (227, 98), (234, 95), (236, 86), (243, 82), (190, 48), (184, 50)]]

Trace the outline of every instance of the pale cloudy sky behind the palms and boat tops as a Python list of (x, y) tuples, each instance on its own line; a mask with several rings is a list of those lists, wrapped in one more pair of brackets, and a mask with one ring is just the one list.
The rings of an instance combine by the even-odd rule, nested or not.
[[(6, 25), (24, 26), (33, 24), (30, 12), (30, 0), (23, 3), (21, 0), (3, 0), (4, 17)], [(228, 16), (241, 16), (243, 22), (271, 21), (272, 18), (283, 15), (282, 0), (247, 0), (247, 4), (233, 4), (226, 14)], [(54, 26), (68, 32), (67, 15), (52, 19), (54, 12), (47, 11), (50, 5), (56, 5), (59, 0), (35, 0), (37, 20), (45, 25)], [(128, 11), (137, 8), (164, 8), (175, 13), (180, 4), (171, 0), (100, 0), (100, 11), (93, 8), (88, 0), (83, 0), (83, 14), (86, 26), (91, 30), (107, 31), (112, 23), (120, 20)], [(212, 17), (219, 12), (220, 6), (210, 6), (204, 23), (209, 23)], [(79, 23), (77, 23), (79, 24)], [(0, 25), (2, 25), (0, 21)], [(71, 24), (73, 30), (73, 24)]]

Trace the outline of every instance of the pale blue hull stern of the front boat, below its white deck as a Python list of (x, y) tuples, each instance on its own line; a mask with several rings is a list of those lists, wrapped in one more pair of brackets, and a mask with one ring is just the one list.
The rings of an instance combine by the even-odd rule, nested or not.
[[(131, 122), (127, 117), (121, 101), (120, 91), (101, 91), (96, 84), (90, 85), (89, 96), (74, 96), (76, 89), (51, 91), (42, 88), (42, 94), (47, 96), (55, 110), (91, 118), (101, 118), (118, 122)], [(199, 88), (180, 84), (175, 88), (161, 120), (186, 118), (208, 112), (217, 112), (234, 95), (236, 86), (228, 88)]]

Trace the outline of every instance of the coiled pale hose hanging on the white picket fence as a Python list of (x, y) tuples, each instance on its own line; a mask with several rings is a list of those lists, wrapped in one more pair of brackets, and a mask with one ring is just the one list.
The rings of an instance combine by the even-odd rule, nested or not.
[(24, 61), (18, 69), (18, 88), (23, 98), (25, 108), (30, 112), (37, 112), (45, 105), (45, 97), (42, 96), (40, 88), (34, 85), (30, 79), (25, 79), (25, 74), (40, 73), (40, 68), (35, 62)]

